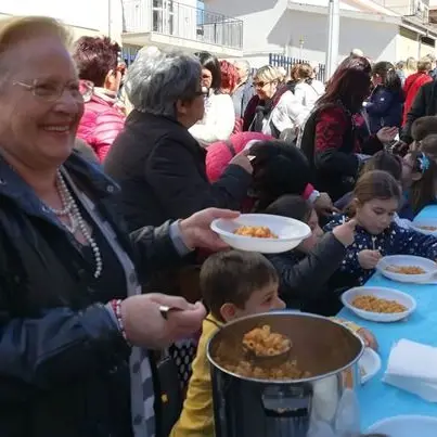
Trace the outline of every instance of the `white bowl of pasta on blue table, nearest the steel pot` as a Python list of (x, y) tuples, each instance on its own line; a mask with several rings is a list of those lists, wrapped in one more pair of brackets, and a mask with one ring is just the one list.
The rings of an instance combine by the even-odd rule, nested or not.
[(415, 299), (394, 288), (359, 286), (342, 295), (343, 305), (361, 319), (373, 322), (397, 322), (408, 318), (416, 307)]

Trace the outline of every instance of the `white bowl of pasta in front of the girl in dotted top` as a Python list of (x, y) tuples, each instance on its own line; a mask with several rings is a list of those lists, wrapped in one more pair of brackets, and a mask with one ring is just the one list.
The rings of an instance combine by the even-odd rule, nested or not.
[(381, 258), (376, 270), (391, 281), (420, 284), (433, 280), (437, 264), (419, 256), (391, 255)]

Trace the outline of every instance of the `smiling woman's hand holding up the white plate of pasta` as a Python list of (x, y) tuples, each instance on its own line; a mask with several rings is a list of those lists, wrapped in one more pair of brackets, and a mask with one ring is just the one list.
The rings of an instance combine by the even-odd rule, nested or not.
[(221, 250), (229, 246), (210, 230), (213, 220), (235, 219), (240, 213), (229, 209), (208, 208), (193, 214), (188, 219), (179, 222), (181, 236), (187, 247), (206, 248), (210, 250)]

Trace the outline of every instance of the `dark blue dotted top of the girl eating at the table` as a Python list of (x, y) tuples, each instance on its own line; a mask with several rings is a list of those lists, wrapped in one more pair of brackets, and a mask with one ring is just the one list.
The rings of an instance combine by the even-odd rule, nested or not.
[[(324, 230), (332, 231), (344, 220), (347, 220), (347, 217), (338, 215), (324, 227)], [(380, 250), (383, 256), (415, 255), (436, 260), (437, 237), (400, 228), (395, 222), (378, 235), (372, 235), (357, 226), (355, 242), (347, 248), (342, 266), (332, 277), (330, 281), (332, 286), (358, 286), (368, 281), (375, 270), (364, 270), (358, 262), (358, 254), (365, 249)]]

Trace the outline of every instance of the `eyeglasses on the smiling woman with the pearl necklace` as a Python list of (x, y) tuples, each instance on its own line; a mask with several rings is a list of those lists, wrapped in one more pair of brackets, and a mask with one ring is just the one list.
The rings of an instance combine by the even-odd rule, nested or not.
[(14, 86), (20, 86), (30, 91), (36, 98), (46, 102), (55, 102), (67, 90), (69, 94), (77, 101), (83, 101), (83, 98), (92, 93), (92, 82), (82, 80), (80, 82), (70, 82), (62, 85), (54, 81), (42, 81), (35, 79), (34, 82), (25, 83), (21, 81), (14, 81)]

